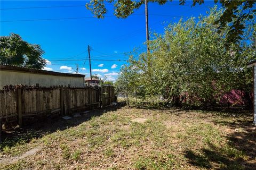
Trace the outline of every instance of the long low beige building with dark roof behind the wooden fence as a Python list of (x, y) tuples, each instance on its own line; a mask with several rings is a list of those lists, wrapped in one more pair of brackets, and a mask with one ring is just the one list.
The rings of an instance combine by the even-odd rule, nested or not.
[(84, 77), (85, 75), (83, 74), (60, 73), (27, 67), (0, 65), (1, 89), (6, 85), (17, 84), (25, 84), (28, 86), (39, 84), (41, 87), (60, 85), (84, 87)]

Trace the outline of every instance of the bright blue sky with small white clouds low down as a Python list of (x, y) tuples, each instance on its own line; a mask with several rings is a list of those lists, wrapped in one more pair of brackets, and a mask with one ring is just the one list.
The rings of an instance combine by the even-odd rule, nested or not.
[[(43, 57), (49, 61), (46, 70), (73, 73), (78, 64), (79, 73), (86, 74), (86, 77), (90, 77), (87, 53), (90, 45), (92, 74), (115, 81), (120, 67), (128, 58), (125, 53), (135, 47), (141, 51), (146, 49), (143, 45), (146, 40), (144, 5), (127, 19), (117, 19), (113, 16), (113, 6), (107, 5), (108, 17), (102, 20), (90, 18), (93, 14), (86, 10), (84, 5), (87, 2), (1, 1), (1, 36), (18, 33), (28, 43), (41, 45), (45, 51)], [(187, 1), (185, 6), (179, 5), (179, 1), (162, 6), (149, 3), (149, 30), (163, 33), (167, 24), (177, 22), (181, 17), (206, 15), (209, 7), (214, 6), (213, 1), (194, 7), (190, 7), (191, 4), (192, 1)], [(52, 20), (20, 21), (33, 19)]]

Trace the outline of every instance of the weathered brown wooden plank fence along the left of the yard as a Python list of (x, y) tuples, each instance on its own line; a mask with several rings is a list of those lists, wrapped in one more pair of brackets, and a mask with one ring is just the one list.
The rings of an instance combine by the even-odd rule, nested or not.
[(46, 117), (99, 108), (116, 101), (114, 87), (14, 88), (0, 90), (1, 130)]

